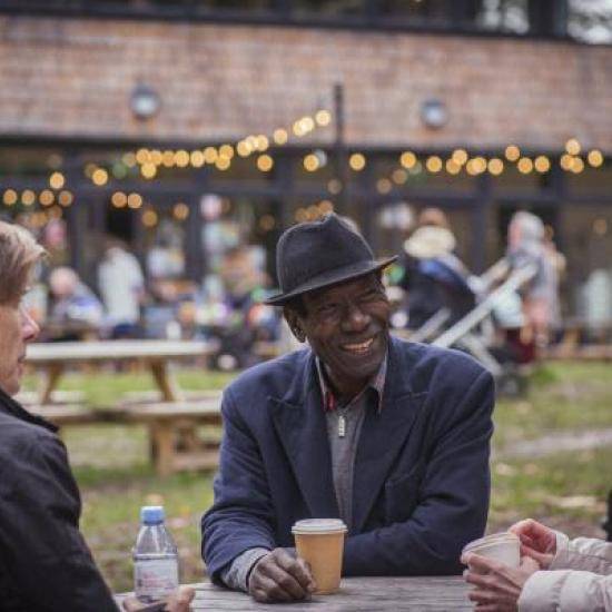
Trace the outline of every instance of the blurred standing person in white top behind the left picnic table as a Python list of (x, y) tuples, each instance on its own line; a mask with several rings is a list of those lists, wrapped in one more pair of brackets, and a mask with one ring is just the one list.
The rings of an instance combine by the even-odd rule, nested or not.
[(138, 259), (118, 238), (109, 237), (106, 240), (103, 258), (98, 267), (98, 287), (110, 337), (139, 337), (145, 276)]

